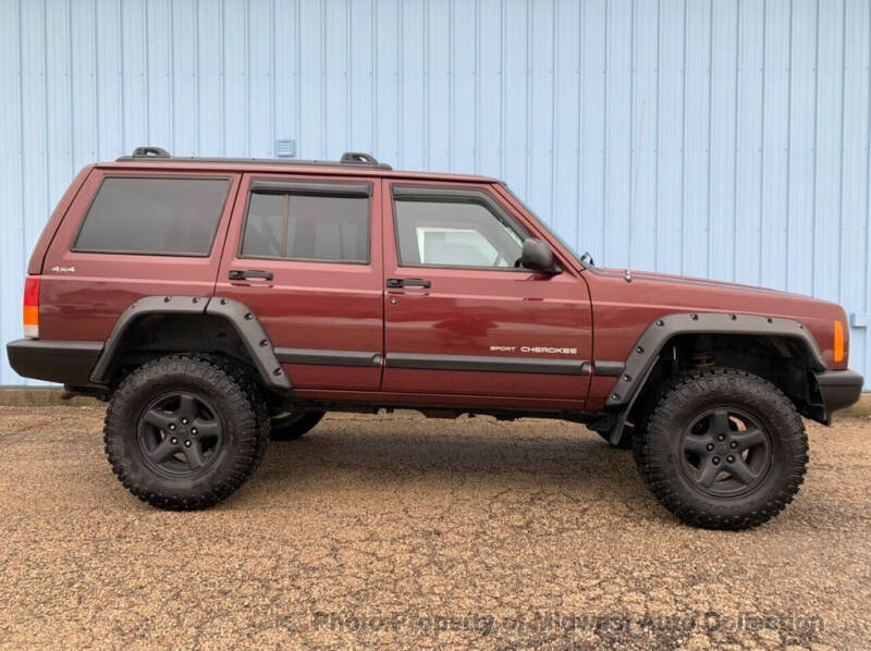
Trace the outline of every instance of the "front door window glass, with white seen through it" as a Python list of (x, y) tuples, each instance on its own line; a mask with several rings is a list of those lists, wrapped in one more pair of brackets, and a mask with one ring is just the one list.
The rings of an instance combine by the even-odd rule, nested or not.
[(394, 201), (401, 265), (514, 267), (523, 235), (479, 201)]

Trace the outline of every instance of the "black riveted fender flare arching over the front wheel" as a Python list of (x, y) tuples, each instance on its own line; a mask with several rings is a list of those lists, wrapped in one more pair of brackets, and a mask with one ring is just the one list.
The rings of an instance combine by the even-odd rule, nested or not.
[(611, 395), (605, 401), (605, 409), (616, 412), (617, 417), (611, 429), (611, 441), (619, 441), (626, 418), (640, 395), (650, 372), (667, 342), (680, 334), (744, 334), (762, 336), (783, 336), (798, 341), (814, 371), (825, 370), (817, 340), (808, 329), (795, 319), (763, 317), (759, 315), (729, 312), (677, 312), (657, 319), (633, 346), (626, 357), (623, 370), (617, 378)]

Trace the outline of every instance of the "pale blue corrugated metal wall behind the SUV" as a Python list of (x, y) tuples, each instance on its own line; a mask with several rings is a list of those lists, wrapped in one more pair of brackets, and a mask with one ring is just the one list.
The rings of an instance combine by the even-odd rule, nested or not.
[(610, 266), (635, 202), (635, 267), (838, 300), (869, 377), (870, 59), (868, 0), (0, 0), (0, 340), (78, 168), (291, 138), (500, 176)]

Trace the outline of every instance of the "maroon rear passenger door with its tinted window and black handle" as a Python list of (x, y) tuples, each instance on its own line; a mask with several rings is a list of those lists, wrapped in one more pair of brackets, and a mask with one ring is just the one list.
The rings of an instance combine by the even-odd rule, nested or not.
[(243, 177), (216, 293), (252, 308), (296, 389), (379, 388), (380, 183)]

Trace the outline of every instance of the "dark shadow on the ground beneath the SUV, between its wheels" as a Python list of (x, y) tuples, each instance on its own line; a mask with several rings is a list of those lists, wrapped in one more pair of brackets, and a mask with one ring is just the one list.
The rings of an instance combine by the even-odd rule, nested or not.
[(476, 494), (559, 491), (648, 512), (655, 505), (631, 452), (610, 447), (581, 425), (532, 419), (328, 418), (302, 439), (272, 442), (246, 493), (300, 499), (356, 486), (438, 494), (458, 484)]

